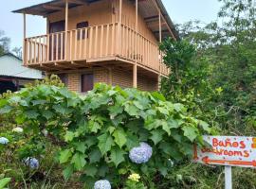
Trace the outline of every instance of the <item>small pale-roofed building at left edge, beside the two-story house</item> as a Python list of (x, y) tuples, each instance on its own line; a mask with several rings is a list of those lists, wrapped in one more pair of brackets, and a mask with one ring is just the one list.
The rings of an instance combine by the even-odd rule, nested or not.
[(18, 91), (25, 84), (42, 79), (42, 72), (23, 66), (23, 62), (11, 53), (0, 56), (0, 94)]

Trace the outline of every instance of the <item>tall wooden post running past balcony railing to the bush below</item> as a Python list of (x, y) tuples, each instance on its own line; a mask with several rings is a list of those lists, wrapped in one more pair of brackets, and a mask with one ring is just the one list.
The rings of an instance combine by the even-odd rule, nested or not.
[(136, 60), (133, 67), (133, 87), (137, 88), (137, 0), (136, 0), (136, 36), (135, 36), (135, 54)]

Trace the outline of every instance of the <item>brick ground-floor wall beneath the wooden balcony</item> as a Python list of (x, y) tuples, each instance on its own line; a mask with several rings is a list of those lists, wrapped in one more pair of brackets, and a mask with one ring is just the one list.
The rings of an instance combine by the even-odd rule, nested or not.
[[(77, 73), (67, 73), (67, 87), (71, 91), (81, 91), (81, 75), (82, 73), (92, 72), (94, 74), (94, 83), (104, 82), (110, 83), (109, 70), (106, 68), (88, 69), (88, 71), (78, 71)], [(133, 73), (124, 69), (113, 68), (112, 85), (119, 85), (122, 88), (133, 87)], [(142, 91), (157, 91), (157, 77), (146, 77), (137, 75), (137, 88)]]

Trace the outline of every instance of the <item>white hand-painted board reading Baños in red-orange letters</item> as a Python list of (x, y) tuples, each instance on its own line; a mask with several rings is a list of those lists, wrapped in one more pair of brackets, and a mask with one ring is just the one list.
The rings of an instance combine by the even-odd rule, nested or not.
[(256, 167), (256, 138), (204, 136), (208, 147), (194, 146), (195, 163)]

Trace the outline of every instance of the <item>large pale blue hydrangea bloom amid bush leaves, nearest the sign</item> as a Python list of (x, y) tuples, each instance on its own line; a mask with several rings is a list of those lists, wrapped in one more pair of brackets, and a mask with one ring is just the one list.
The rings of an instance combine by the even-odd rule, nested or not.
[(147, 163), (152, 156), (152, 147), (146, 143), (139, 143), (139, 146), (133, 147), (129, 152), (129, 158), (133, 163)]

